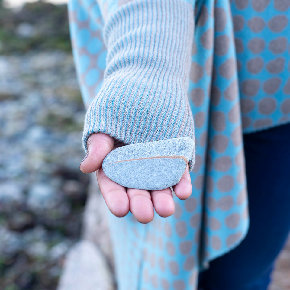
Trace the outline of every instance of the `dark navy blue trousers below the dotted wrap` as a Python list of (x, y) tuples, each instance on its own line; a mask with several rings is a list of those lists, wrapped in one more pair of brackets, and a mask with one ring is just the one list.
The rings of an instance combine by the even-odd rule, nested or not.
[(290, 124), (244, 134), (250, 227), (199, 275), (203, 290), (266, 290), (290, 231)]

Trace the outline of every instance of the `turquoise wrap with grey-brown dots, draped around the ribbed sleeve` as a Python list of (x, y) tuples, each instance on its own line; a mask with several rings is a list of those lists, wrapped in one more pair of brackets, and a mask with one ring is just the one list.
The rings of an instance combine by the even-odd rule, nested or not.
[[(102, 88), (107, 51), (102, 29), (130, 2), (136, 3), (68, 3), (73, 55), (86, 108)], [(193, 192), (186, 201), (174, 196), (175, 214), (168, 218), (155, 214), (149, 224), (138, 223), (131, 214), (116, 218), (108, 213), (121, 290), (194, 289), (198, 271), (247, 234), (242, 133), (289, 122), (290, 3), (186, 3), (195, 11), (188, 88), (196, 140), (190, 172)]]

